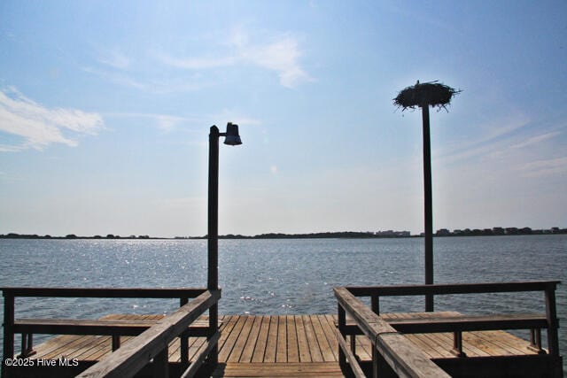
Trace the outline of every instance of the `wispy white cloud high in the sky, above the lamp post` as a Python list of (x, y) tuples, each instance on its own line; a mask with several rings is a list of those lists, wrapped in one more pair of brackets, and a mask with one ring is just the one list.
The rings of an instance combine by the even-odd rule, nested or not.
[(313, 79), (299, 64), (302, 51), (292, 35), (278, 35), (270, 42), (251, 42), (243, 29), (238, 29), (222, 45), (227, 47), (217, 56), (176, 58), (167, 53), (156, 53), (163, 64), (187, 70), (208, 70), (219, 67), (253, 65), (274, 71), (283, 87), (294, 88)]

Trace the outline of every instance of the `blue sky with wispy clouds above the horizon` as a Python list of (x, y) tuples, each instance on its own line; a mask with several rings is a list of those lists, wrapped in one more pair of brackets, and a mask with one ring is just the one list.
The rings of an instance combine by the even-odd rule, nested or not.
[(0, 3), (0, 234), (423, 231), (416, 80), (431, 112), (433, 227), (567, 227), (567, 3)]

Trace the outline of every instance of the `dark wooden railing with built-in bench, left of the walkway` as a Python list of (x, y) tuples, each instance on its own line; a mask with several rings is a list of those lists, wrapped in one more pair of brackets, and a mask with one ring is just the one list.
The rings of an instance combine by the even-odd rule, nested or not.
[[(115, 289), (115, 288), (0, 288), (4, 295), (4, 356), (2, 376), (9, 376), (6, 359), (14, 357), (14, 335), (21, 334), (21, 351), (19, 357), (27, 358), (34, 354), (33, 335), (97, 335), (112, 336), (113, 353), (108, 359), (113, 362), (122, 361), (117, 356), (124, 356), (133, 352), (139, 340), (145, 340), (143, 347), (136, 356), (122, 361), (113, 372), (120, 372), (120, 377), (132, 376), (142, 369), (150, 360), (153, 368), (157, 369), (156, 376), (167, 376), (167, 345), (175, 337), (180, 338), (180, 351), (182, 366), (188, 366), (183, 376), (194, 374), (207, 356), (216, 361), (219, 330), (216, 319), (209, 319), (206, 328), (191, 328), (190, 325), (198, 317), (214, 307), (221, 298), (221, 290), (208, 290), (203, 288), (176, 288), (176, 289)], [(62, 319), (15, 319), (16, 297), (98, 297), (98, 298), (179, 298), (180, 307), (172, 314), (157, 321), (148, 320), (62, 320)], [(194, 298), (190, 301), (190, 298)], [(130, 341), (127, 347), (120, 348), (120, 336), (138, 336)], [(189, 366), (189, 336), (206, 336), (207, 342), (204, 351)], [(117, 354), (117, 352), (120, 353)], [(112, 359), (111, 359), (112, 358)], [(106, 361), (108, 359), (104, 359)], [(145, 362), (143, 362), (145, 361)], [(102, 361), (101, 361), (102, 362)], [(122, 371), (124, 364), (128, 372)], [(132, 365), (134, 364), (134, 365)], [(98, 366), (95, 365), (95, 366)], [(91, 367), (95, 367), (91, 366)], [(107, 366), (107, 363), (103, 366)], [(136, 370), (138, 369), (138, 370)], [(188, 374), (189, 372), (189, 374)], [(89, 375), (96, 376), (96, 375)]]

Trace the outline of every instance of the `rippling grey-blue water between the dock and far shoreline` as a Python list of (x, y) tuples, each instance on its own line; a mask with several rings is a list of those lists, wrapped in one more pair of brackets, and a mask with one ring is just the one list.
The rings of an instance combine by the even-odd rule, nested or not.
[[(223, 240), (219, 249), (221, 313), (335, 313), (333, 286), (423, 282), (420, 238)], [(567, 235), (437, 238), (434, 256), (439, 283), (567, 283)], [(206, 286), (206, 241), (4, 239), (0, 257), (0, 286)], [(558, 317), (564, 319), (565, 285), (556, 299)], [(171, 312), (175, 305), (160, 299), (24, 298), (16, 302), (16, 316), (97, 318), (109, 312)], [(435, 305), (436, 310), (477, 313), (544, 308), (542, 295), (529, 294), (437, 297)], [(386, 312), (423, 311), (423, 298), (385, 299), (381, 306)], [(565, 355), (565, 328), (559, 337)]]

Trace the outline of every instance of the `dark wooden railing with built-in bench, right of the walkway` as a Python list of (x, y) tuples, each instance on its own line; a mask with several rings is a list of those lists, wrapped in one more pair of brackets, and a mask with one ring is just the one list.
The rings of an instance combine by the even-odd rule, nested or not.
[[(354, 335), (364, 334), (369, 336), (373, 343), (373, 369), (377, 374), (379, 360), (385, 360), (392, 370), (400, 376), (430, 376), (423, 371), (408, 371), (401, 368), (402, 360), (408, 359), (396, 352), (397, 348), (384, 346), (384, 337), (400, 337), (402, 333), (435, 333), (453, 332), (454, 355), (466, 357), (462, 351), (462, 332), (478, 330), (500, 330), (500, 329), (529, 329), (530, 349), (539, 353), (533, 356), (543, 361), (550, 371), (550, 376), (563, 376), (561, 368), (562, 358), (559, 354), (557, 328), (559, 320), (556, 316), (555, 289), (558, 281), (541, 282), (496, 282), (496, 283), (457, 283), (457, 284), (431, 284), (431, 285), (394, 285), (394, 286), (349, 286), (334, 288), (338, 300), (338, 341), (339, 341), (339, 363), (346, 366), (349, 360), (353, 370), (360, 369), (355, 356)], [(530, 292), (541, 291), (544, 293), (545, 313), (538, 314), (492, 314), (492, 315), (460, 315), (454, 317), (434, 317), (435, 312), (426, 319), (408, 320), (383, 320), (380, 314), (380, 297), (401, 296), (438, 296), (454, 294), (481, 294), (481, 293), (505, 293), (505, 292)], [(364, 305), (357, 297), (370, 297), (370, 308)], [(346, 324), (346, 313), (353, 318), (354, 325)], [(380, 331), (376, 329), (377, 326)], [(540, 329), (546, 328), (548, 332), (548, 351), (541, 347)], [(347, 348), (346, 336), (351, 336), (351, 348)], [(394, 352), (392, 354), (392, 351)], [(410, 354), (415, 353), (411, 351)], [(418, 354), (416, 354), (418, 355)], [(411, 359), (410, 359), (411, 360)], [(470, 359), (469, 359), (470, 360)], [(520, 359), (518, 358), (518, 361)], [(416, 373), (416, 374), (414, 374)], [(423, 374), (422, 374), (423, 373)], [(359, 376), (354, 372), (356, 376)], [(364, 375), (360, 375), (364, 376)], [(435, 374), (431, 376), (436, 376)]]

